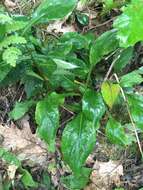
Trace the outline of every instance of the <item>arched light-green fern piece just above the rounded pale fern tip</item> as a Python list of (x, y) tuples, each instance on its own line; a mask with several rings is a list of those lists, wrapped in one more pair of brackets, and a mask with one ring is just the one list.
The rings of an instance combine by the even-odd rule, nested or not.
[(3, 48), (7, 48), (11, 44), (25, 44), (26, 40), (25, 38), (17, 35), (11, 35), (8, 37), (5, 37), (4, 40), (0, 43), (0, 50)]

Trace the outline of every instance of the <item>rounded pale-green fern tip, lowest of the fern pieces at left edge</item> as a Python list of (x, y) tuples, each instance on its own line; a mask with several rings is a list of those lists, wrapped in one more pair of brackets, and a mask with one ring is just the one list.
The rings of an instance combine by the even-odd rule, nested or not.
[(20, 55), (22, 55), (22, 52), (18, 48), (9, 47), (3, 52), (2, 58), (6, 63), (15, 67)]

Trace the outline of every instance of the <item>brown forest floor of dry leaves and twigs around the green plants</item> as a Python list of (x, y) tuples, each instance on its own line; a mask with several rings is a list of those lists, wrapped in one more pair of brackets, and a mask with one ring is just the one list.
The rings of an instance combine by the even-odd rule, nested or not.
[[(6, 0), (5, 6), (12, 14), (29, 14), (38, 3), (39, 1), (34, 0)], [(62, 20), (51, 23), (46, 29), (44, 28), (43, 35), (45, 38), (51, 40), (62, 33), (71, 31), (80, 33), (91, 31), (95, 36), (98, 36), (109, 30), (113, 20), (120, 14), (119, 8), (103, 11), (102, 4), (95, 2), (88, 6), (79, 6), (77, 11), (78, 16), (73, 16), (70, 23)], [(88, 16), (89, 21), (87, 24), (82, 25), (80, 23), (82, 22), (80, 14)], [(141, 49), (140, 44), (137, 44), (136, 57), (131, 60), (131, 64), (125, 73), (141, 65), (142, 54), (143, 49)], [(102, 69), (108, 72), (108, 64)], [(61, 128), (58, 130), (57, 150), (54, 154), (47, 153), (44, 144), (35, 136), (36, 124), (32, 117), (32, 111), (17, 122), (11, 121), (8, 116), (14, 103), (24, 100), (24, 98), (25, 93), (21, 84), (12, 85), (0, 90), (0, 131), (3, 131), (2, 135), (0, 135), (0, 145), (4, 144), (4, 147), (16, 146), (15, 154), (25, 158), (23, 167), (30, 171), (36, 181), (41, 181), (43, 173), (47, 173), (46, 187), (41, 184), (38, 190), (64, 190), (65, 187), (61, 184), (60, 177), (67, 175), (68, 170), (61, 160), (62, 155), (58, 142), (60, 141), (64, 126), (72, 119), (74, 113), (61, 108)], [(75, 100), (71, 99), (68, 101)], [(122, 110), (120, 111), (122, 113)], [(106, 118), (104, 119), (106, 120)], [(138, 146), (135, 144), (134, 147), (122, 149), (112, 145), (105, 137), (103, 131), (101, 127), (98, 131), (94, 152), (88, 157), (86, 162), (87, 167), (92, 168), (93, 172), (85, 190), (111, 190), (115, 188), (138, 190), (143, 187), (143, 163)], [(16, 172), (14, 168), (9, 168), (5, 163), (0, 161), (0, 179), (7, 175), (12, 175), (13, 172)], [(18, 174), (13, 189), (23, 189), (21, 183), (19, 183)]]

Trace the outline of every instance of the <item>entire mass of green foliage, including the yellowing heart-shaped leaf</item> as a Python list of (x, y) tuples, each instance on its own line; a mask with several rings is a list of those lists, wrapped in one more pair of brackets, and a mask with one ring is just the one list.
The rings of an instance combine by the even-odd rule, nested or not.
[[(134, 54), (134, 45), (143, 40), (143, 2), (132, 0), (123, 7), (113, 29), (97, 39), (75, 32), (49, 43), (33, 34), (37, 24), (63, 18), (76, 3), (44, 0), (30, 18), (0, 14), (0, 85), (20, 81), (27, 98), (16, 103), (10, 117), (18, 120), (33, 107), (36, 133), (47, 144), (47, 151), (54, 152), (59, 108), (75, 113), (61, 139), (63, 160), (71, 169), (71, 175), (61, 180), (70, 189), (82, 189), (88, 182), (91, 170), (85, 162), (95, 147), (103, 116), (107, 117), (105, 133), (110, 142), (123, 147), (137, 142), (141, 154), (138, 133), (143, 130), (143, 96), (134, 88), (143, 81), (143, 68), (122, 74)], [(103, 59), (110, 67), (95, 90), (92, 72)], [(80, 101), (70, 105), (67, 97)], [(127, 123), (114, 117), (117, 104), (126, 107)]]

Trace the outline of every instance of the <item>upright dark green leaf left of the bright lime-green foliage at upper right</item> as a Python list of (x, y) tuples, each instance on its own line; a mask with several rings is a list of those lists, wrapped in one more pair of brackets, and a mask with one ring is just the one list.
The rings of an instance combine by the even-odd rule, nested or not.
[(96, 65), (104, 55), (109, 54), (118, 47), (116, 30), (110, 30), (99, 36), (90, 50), (90, 63)]

